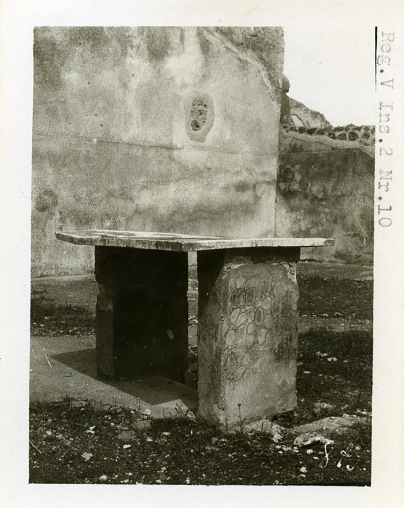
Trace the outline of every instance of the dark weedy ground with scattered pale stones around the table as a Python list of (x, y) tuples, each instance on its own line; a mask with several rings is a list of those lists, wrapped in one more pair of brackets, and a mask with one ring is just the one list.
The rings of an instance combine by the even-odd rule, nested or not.
[[(300, 313), (372, 320), (372, 282), (301, 276)], [(91, 311), (31, 308), (32, 333), (93, 333)], [(191, 315), (195, 320), (195, 316)], [(195, 326), (195, 323), (190, 323)], [(300, 335), (295, 411), (278, 415), (285, 428), (274, 442), (190, 419), (146, 421), (136, 410), (66, 399), (30, 407), (31, 483), (369, 485), (371, 481), (372, 334), (313, 330)], [(291, 429), (327, 416), (366, 416), (334, 443), (295, 447)], [(139, 428), (147, 427), (147, 428)], [(125, 434), (126, 432), (126, 434)], [(88, 455), (85, 455), (88, 454)]]

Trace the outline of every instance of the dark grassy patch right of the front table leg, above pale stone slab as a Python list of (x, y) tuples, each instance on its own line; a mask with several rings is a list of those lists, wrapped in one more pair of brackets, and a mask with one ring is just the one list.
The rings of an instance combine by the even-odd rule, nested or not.
[(293, 424), (370, 411), (372, 362), (373, 340), (367, 332), (300, 335)]

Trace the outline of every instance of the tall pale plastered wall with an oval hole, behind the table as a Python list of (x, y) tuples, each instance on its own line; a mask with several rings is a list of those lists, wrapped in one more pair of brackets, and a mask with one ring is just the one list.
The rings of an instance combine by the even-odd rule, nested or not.
[(280, 28), (45, 27), (33, 49), (32, 276), (92, 270), (57, 229), (275, 233)]

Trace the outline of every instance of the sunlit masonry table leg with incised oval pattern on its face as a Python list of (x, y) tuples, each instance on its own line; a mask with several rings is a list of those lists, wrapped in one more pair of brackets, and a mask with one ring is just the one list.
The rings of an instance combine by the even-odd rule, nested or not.
[(198, 252), (199, 415), (226, 427), (296, 404), (298, 247)]

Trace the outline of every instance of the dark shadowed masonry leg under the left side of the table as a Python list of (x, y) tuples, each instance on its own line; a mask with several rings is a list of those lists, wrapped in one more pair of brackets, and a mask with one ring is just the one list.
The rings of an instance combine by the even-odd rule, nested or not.
[(188, 347), (186, 252), (95, 247), (96, 361), (108, 379), (184, 381)]

